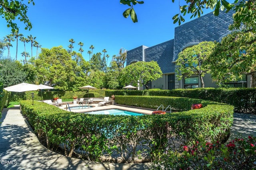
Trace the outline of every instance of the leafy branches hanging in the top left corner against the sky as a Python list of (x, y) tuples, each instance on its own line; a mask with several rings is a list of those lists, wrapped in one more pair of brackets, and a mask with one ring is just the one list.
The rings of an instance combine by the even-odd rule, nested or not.
[[(0, 15), (7, 21), (7, 27), (12, 28), (12, 32), (19, 30), (16, 20), (24, 22), (25, 29), (31, 29), (32, 24), (30, 23), (27, 11), (27, 4), (23, 3), (24, 0), (0, 0)], [(28, 0), (28, 4), (32, 2), (34, 5), (34, 0)]]

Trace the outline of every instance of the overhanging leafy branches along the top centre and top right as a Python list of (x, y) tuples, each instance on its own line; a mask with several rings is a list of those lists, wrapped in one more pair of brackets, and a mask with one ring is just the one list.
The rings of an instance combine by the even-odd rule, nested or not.
[[(172, 0), (174, 2), (174, 0)], [(136, 12), (134, 11), (134, 5), (136, 4), (144, 4), (144, 1), (136, 1), (136, 0), (120, 0), (121, 4), (130, 6), (127, 10), (124, 11), (123, 16), (130, 18), (133, 22), (138, 22)], [(185, 5), (182, 5), (186, 3)], [(191, 13), (191, 17), (200, 17), (203, 14), (204, 8), (210, 8), (214, 10), (214, 15), (218, 16), (219, 11), (226, 10), (226, 12), (233, 10), (236, 14), (233, 16), (234, 25), (232, 27), (239, 28), (241, 24), (246, 25), (246, 27), (250, 29), (256, 28), (256, 3), (255, 0), (234, 0), (233, 4), (230, 4), (226, 0), (184, 0), (179, 1), (180, 12), (173, 16), (172, 20), (174, 23), (178, 22), (179, 25), (181, 22), (184, 22), (184, 18), (182, 16)]]

